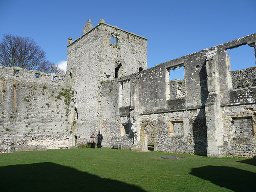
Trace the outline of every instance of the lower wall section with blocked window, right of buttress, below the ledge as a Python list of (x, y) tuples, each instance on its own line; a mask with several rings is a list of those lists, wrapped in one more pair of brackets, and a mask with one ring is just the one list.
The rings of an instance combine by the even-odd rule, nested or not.
[(226, 156), (253, 158), (256, 156), (256, 105), (230, 105), (223, 108), (222, 114), (227, 135)]

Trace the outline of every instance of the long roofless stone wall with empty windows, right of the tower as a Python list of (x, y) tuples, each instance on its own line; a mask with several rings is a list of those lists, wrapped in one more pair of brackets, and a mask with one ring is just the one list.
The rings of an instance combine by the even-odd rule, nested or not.
[[(245, 39), (249, 37), (161, 63), (125, 76), (119, 83), (102, 83), (101, 117), (108, 119), (108, 123), (101, 123), (102, 130), (106, 135), (115, 135), (109, 138), (111, 142), (122, 140), (122, 128), (129, 124), (126, 128), (130, 127), (133, 142), (126, 139), (126, 146), (130, 144), (133, 149), (145, 149), (153, 143), (155, 151), (162, 152), (255, 156), (254, 131), (248, 127), (254, 123), (254, 115), (249, 120), (240, 117), (244, 114), (243, 104), (254, 105), (255, 90), (232, 90), (230, 60), (225, 50), (244, 44)], [(181, 66), (185, 76), (182, 83), (169, 81), (169, 70)], [(233, 109), (233, 105), (239, 108)], [(231, 117), (222, 112), (224, 109), (238, 110), (240, 115)], [(240, 126), (236, 129), (243, 136), (232, 136), (230, 118), (237, 119), (233, 124)]]

